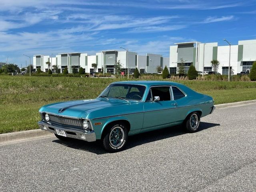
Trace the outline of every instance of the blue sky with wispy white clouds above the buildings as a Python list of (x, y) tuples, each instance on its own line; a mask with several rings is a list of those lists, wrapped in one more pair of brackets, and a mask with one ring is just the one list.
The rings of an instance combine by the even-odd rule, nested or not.
[[(255, 0), (0, 0), (0, 61), (120, 50), (169, 57), (175, 42), (256, 39)], [(29, 62), (29, 61), (28, 61)]]

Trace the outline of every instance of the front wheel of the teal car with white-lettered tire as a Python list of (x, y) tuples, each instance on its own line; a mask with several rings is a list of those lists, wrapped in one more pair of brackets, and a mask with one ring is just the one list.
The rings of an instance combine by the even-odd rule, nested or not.
[(109, 152), (118, 152), (124, 149), (128, 138), (128, 130), (123, 123), (112, 124), (102, 138), (103, 148)]

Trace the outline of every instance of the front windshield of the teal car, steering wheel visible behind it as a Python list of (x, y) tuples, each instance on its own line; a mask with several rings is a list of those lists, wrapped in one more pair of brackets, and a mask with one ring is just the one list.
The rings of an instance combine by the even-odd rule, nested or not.
[(111, 84), (100, 94), (100, 97), (127, 100), (142, 100), (146, 87), (142, 85)]

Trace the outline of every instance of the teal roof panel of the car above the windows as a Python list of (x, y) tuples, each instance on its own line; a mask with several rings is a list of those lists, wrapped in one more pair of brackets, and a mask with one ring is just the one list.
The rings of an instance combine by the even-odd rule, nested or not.
[(172, 81), (118, 81), (118, 82), (113, 82), (112, 84), (135, 84), (135, 85), (145, 85), (145, 86), (181, 85), (180, 83), (176, 83)]

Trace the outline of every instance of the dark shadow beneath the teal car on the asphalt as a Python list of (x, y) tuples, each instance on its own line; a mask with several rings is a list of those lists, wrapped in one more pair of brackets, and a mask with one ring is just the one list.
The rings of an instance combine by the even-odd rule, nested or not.
[[(198, 132), (202, 130), (206, 130), (208, 128), (213, 128), (216, 126), (220, 126), (220, 124), (200, 122), (200, 127), (198, 129)], [(146, 144), (146, 143), (150, 143), (150, 142), (154, 142), (154, 141), (158, 141), (166, 138), (179, 136), (182, 134), (189, 134), (189, 133), (186, 130), (184, 130), (184, 127), (181, 125), (136, 134), (133, 136), (129, 136), (126, 149), (130, 149), (142, 144)], [(102, 148), (102, 144), (98, 140), (95, 142), (86, 142), (78, 139), (70, 139), (70, 141), (62, 141), (62, 140), (56, 139), (56, 140), (53, 140), (52, 142), (62, 144), (64, 146), (67, 146), (73, 149), (95, 153), (98, 155), (108, 153)]]

